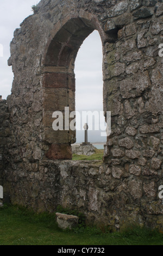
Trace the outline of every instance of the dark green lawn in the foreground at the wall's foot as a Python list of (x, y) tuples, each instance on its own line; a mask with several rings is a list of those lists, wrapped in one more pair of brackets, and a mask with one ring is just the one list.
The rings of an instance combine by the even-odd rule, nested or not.
[(55, 214), (4, 205), (0, 208), (0, 245), (163, 245), (163, 234), (140, 227), (118, 233), (96, 227), (62, 231)]

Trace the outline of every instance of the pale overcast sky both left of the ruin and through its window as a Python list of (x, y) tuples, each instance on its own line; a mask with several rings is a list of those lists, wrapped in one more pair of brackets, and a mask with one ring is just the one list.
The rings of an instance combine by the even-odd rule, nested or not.
[[(13, 73), (7, 60), (10, 57), (10, 41), (16, 28), (27, 16), (33, 14), (35, 0), (5, 0), (0, 2), (0, 95), (3, 99), (11, 93)], [(0, 54), (1, 56), (1, 54)], [(103, 111), (102, 42), (97, 31), (89, 35), (80, 47), (75, 63), (76, 110)]]

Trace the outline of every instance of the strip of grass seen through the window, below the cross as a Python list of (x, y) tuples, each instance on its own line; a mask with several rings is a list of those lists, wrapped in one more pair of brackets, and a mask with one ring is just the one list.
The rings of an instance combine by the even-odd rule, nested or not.
[(103, 149), (96, 149), (95, 154), (91, 156), (85, 156), (85, 155), (72, 155), (72, 160), (103, 160), (104, 150)]

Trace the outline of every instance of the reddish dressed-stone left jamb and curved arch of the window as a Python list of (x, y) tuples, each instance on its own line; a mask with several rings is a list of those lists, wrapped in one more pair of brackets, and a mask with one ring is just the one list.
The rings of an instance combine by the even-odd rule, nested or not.
[(74, 62), (85, 38), (97, 25), (84, 18), (72, 18), (65, 23), (51, 40), (45, 54), (43, 68), (43, 123), (45, 142), (49, 144), (49, 159), (71, 159), (71, 144), (76, 142), (76, 131), (53, 131), (52, 114), (60, 111), (65, 117), (65, 107), (75, 111)]

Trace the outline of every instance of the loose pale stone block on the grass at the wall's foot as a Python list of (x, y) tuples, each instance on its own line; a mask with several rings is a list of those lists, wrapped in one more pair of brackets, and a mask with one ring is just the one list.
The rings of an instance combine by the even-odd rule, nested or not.
[(57, 212), (55, 214), (57, 216), (58, 227), (61, 229), (72, 229), (77, 226), (79, 217), (74, 215), (60, 214)]

